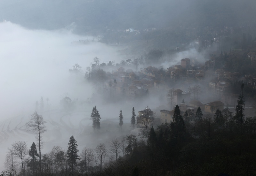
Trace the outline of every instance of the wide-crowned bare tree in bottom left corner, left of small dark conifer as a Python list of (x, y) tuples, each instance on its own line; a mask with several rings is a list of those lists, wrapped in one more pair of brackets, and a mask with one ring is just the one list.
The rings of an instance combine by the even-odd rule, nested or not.
[(18, 141), (12, 143), (12, 148), (8, 149), (8, 154), (21, 159), (22, 175), (25, 175), (24, 158), (28, 155), (27, 143), (25, 141)]

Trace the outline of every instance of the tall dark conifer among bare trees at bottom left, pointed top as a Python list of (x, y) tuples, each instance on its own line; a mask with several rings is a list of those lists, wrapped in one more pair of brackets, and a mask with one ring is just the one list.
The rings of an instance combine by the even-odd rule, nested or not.
[(68, 151), (67, 151), (67, 157), (68, 157), (68, 165), (71, 168), (71, 172), (74, 173), (74, 167), (76, 165), (76, 160), (79, 158), (78, 157), (78, 149), (77, 149), (77, 144), (74, 136), (71, 136), (69, 138), (69, 143), (68, 143)]

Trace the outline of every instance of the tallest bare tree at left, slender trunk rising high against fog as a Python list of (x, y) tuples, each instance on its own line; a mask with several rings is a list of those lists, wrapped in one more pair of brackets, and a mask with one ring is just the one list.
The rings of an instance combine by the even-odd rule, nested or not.
[(42, 141), (41, 134), (46, 131), (46, 126), (44, 125), (46, 121), (44, 121), (44, 118), (42, 115), (39, 115), (36, 111), (34, 114), (31, 115), (31, 119), (28, 123), (26, 123), (26, 126), (28, 130), (34, 131), (37, 133), (36, 140), (38, 142), (38, 148), (39, 148), (39, 171), (40, 174), (42, 173), (41, 169), (41, 148), (44, 144)]

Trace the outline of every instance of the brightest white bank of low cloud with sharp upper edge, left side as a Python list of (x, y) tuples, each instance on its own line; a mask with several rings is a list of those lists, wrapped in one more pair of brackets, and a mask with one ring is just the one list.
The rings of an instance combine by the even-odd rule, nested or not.
[[(99, 42), (81, 44), (79, 40), (90, 41), (93, 37), (75, 35), (64, 29), (28, 30), (3, 22), (0, 38), (1, 119), (30, 110), (41, 96), (49, 97), (51, 104), (59, 102), (66, 93), (77, 98), (80, 92), (68, 72), (75, 63), (85, 72), (95, 56), (101, 63), (120, 58), (117, 48)], [(86, 93), (91, 91), (84, 90)]]

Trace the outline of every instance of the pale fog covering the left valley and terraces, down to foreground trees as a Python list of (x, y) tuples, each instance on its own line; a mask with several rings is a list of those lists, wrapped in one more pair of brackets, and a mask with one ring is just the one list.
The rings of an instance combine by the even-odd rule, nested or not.
[[(81, 44), (79, 40), (90, 41), (93, 38), (74, 35), (65, 29), (29, 30), (11, 22), (0, 23), (0, 39), (1, 169), (4, 169), (7, 148), (14, 141), (27, 141), (29, 147), (36, 141), (35, 134), (29, 135), (25, 126), (35, 110), (47, 121), (43, 153), (49, 152), (53, 145), (66, 149), (69, 137), (82, 135), (86, 126), (92, 132), (89, 119), (94, 105), (102, 114), (102, 120), (111, 116), (106, 112), (104, 115), (103, 111), (110, 107), (98, 106), (100, 100), (97, 104), (86, 103), (95, 91), (84, 79), (84, 73), (96, 56), (100, 62), (121, 60), (117, 53), (120, 48), (99, 42)], [(76, 63), (82, 66), (82, 73), (72, 75), (68, 70)], [(65, 96), (75, 103), (76, 110), (72, 113), (66, 112), (60, 105), (60, 100)], [(41, 97), (43, 108), (40, 105)], [(116, 117), (120, 108), (116, 109)], [(86, 141), (85, 134), (83, 136)]]

